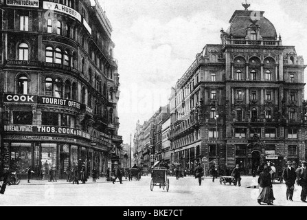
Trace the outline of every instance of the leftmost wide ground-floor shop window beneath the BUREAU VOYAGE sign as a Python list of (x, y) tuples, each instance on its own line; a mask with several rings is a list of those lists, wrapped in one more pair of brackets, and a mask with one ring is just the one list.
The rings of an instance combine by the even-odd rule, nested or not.
[(31, 143), (11, 143), (10, 167), (19, 174), (27, 174), (27, 168), (32, 166)]

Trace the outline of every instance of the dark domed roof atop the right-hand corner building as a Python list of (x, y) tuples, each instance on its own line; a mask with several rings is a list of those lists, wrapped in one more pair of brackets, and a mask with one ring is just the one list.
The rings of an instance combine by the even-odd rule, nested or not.
[(262, 39), (276, 39), (277, 33), (274, 25), (263, 17), (263, 14), (264, 12), (236, 10), (229, 21), (230, 27), (227, 30), (227, 34), (234, 38), (245, 38), (247, 28), (255, 25), (260, 28)]

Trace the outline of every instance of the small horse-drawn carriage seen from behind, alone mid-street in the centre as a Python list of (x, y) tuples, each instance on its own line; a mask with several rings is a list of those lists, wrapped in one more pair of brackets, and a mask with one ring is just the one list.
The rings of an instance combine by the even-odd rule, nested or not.
[(154, 186), (162, 186), (166, 191), (170, 188), (170, 180), (168, 179), (168, 169), (166, 168), (153, 168), (151, 173), (150, 190), (152, 191)]

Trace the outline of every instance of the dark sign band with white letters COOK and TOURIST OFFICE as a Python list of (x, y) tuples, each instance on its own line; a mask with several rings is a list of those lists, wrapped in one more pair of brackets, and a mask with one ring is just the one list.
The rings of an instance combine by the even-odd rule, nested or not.
[(34, 95), (19, 95), (19, 94), (4, 94), (3, 102), (11, 103), (38, 103), (38, 104), (52, 104), (56, 106), (71, 107), (74, 109), (87, 111), (93, 114), (93, 109), (85, 104), (64, 98), (54, 98), (49, 96), (34, 96)]

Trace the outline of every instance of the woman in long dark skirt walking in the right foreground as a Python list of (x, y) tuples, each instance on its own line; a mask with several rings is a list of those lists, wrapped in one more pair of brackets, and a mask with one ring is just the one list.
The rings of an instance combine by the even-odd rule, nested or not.
[(267, 203), (268, 205), (273, 205), (273, 200), (275, 200), (273, 195), (273, 187), (271, 181), (271, 174), (269, 173), (269, 166), (264, 166), (263, 171), (260, 173), (258, 178), (259, 184), (259, 196), (258, 203)]

